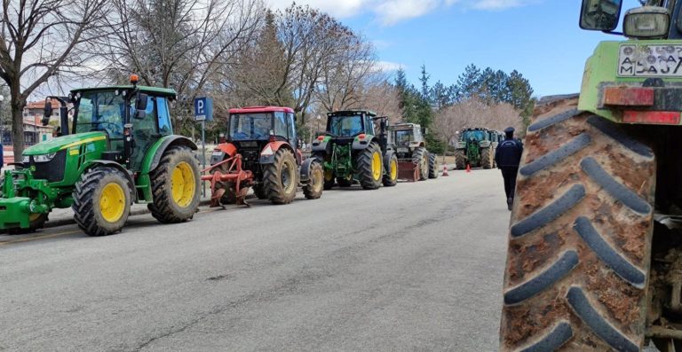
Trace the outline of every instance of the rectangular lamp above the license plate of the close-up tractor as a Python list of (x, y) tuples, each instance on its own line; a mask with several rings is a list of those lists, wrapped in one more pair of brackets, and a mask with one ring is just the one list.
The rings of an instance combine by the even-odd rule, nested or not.
[(625, 13), (623, 33), (634, 38), (663, 38), (668, 35), (670, 15), (662, 7), (644, 6)]

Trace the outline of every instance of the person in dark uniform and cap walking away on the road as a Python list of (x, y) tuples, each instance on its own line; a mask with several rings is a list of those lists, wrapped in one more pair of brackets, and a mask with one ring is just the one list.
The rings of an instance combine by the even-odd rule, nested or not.
[(504, 178), (504, 192), (507, 194), (507, 208), (512, 210), (514, 202), (514, 188), (516, 187), (516, 174), (519, 172), (519, 162), (523, 153), (523, 143), (514, 139), (514, 128), (504, 129), (504, 141), (497, 145), (495, 150), (495, 162), (497, 168), (502, 170)]

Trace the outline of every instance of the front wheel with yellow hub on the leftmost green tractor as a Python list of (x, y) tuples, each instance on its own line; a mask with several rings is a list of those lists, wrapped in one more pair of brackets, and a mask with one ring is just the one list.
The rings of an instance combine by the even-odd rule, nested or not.
[(73, 193), (75, 223), (88, 236), (121, 231), (131, 213), (133, 185), (117, 168), (91, 168), (81, 175)]

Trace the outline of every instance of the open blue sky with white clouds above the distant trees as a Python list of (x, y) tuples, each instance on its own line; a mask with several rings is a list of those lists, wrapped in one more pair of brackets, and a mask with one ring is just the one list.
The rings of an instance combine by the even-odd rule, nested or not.
[[(538, 97), (580, 90), (597, 43), (622, 36), (578, 27), (577, 0), (297, 0), (329, 12), (375, 44), (387, 70), (403, 67), (415, 84), (421, 66), (431, 83), (456, 82), (474, 64), (529, 81)], [(290, 0), (270, 0), (276, 8)], [(623, 0), (623, 12), (639, 5)], [(622, 21), (621, 21), (622, 22)]]

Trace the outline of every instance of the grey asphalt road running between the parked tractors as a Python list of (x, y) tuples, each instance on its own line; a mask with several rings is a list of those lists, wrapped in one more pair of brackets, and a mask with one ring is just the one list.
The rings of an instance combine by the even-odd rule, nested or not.
[(0, 245), (0, 350), (494, 351), (497, 170)]

